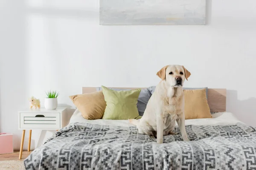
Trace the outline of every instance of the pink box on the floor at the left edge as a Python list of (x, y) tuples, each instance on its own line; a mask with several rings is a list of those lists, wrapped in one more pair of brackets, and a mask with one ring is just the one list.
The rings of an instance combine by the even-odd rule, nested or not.
[(0, 154), (13, 153), (11, 133), (0, 133)]

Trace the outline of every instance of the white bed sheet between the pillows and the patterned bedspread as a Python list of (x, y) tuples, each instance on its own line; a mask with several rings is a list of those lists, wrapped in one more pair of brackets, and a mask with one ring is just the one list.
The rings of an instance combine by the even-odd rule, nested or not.
[[(109, 126), (123, 126), (130, 127), (134, 126), (128, 122), (128, 120), (105, 120), (105, 119), (96, 119), (96, 120), (87, 120), (84, 119), (78, 109), (73, 113), (70, 118), (69, 123), (81, 122), (81, 123), (90, 123), (98, 125), (109, 125)], [(233, 125), (236, 123), (243, 123), (236, 118), (233, 113), (230, 112), (219, 112), (212, 114), (212, 118), (207, 119), (188, 119), (185, 120), (185, 125)], [(176, 122), (177, 125), (177, 122)]]

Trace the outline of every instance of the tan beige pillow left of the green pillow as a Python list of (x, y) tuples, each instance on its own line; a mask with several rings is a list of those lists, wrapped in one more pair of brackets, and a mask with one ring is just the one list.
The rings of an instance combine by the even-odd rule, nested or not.
[(85, 119), (102, 119), (106, 108), (106, 102), (102, 91), (77, 94), (70, 96), (70, 99)]

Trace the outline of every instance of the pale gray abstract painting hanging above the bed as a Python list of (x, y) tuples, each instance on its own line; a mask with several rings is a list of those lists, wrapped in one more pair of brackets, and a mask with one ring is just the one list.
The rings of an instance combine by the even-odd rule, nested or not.
[(204, 25), (206, 0), (100, 0), (100, 25)]

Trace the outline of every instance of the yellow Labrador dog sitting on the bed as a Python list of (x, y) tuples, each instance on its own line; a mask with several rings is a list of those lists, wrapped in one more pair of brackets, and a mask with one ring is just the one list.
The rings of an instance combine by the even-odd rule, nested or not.
[(157, 72), (162, 80), (156, 86), (141, 119), (129, 119), (138, 132), (157, 137), (163, 143), (163, 136), (173, 133), (175, 121), (180, 128), (183, 141), (189, 141), (185, 129), (183, 83), (190, 76), (183, 65), (166, 65)]

